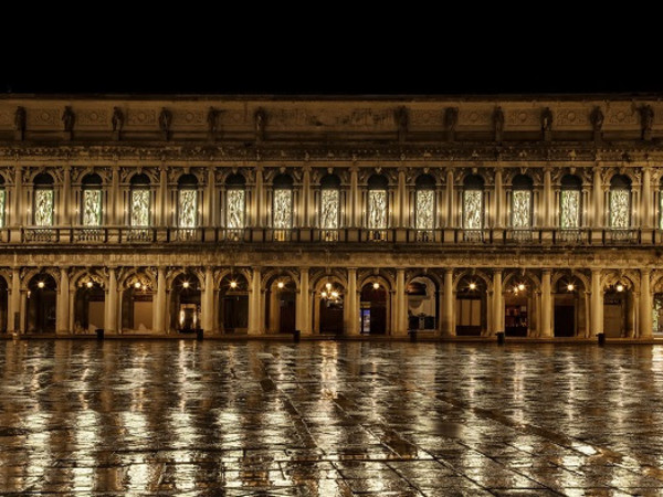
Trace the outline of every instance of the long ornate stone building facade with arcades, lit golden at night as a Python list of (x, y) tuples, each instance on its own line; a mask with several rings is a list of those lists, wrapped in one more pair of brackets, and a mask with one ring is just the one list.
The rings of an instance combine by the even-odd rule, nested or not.
[(651, 338), (657, 97), (0, 99), (0, 330)]

